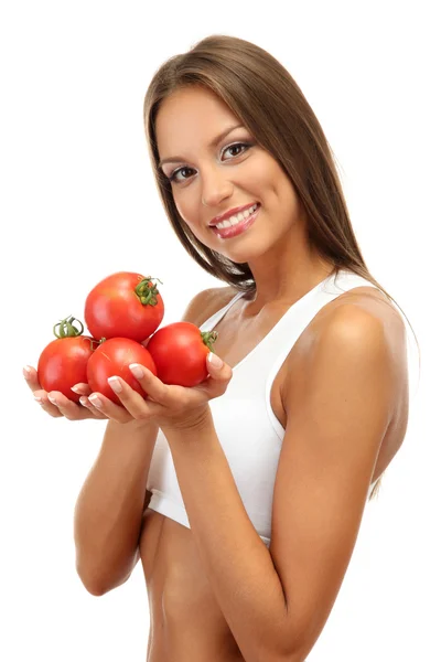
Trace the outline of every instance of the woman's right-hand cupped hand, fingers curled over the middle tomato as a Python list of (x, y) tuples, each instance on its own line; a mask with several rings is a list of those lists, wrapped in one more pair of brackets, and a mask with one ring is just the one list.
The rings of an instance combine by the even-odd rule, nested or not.
[[(187, 388), (164, 384), (143, 365), (137, 364), (130, 369), (146, 392), (146, 397), (121, 377), (110, 377), (109, 384), (121, 402), (120, 407), (114, 405), (117, 408), (115, 419), (119, 423), (133, 419), (153, 421), (162, 430), (191, 429), (202, 424), (211, 414), (208, 402), (225, 393), (233, 376), (233, 370), (226, 363), (216, 369), (207, 360), (208, 377), (197, 386)], [(107, 412), (108, 403), (112, 404), (101, 394), (92, 394), (89, 401), (95, 407), (100, 404), (101, 412)]]

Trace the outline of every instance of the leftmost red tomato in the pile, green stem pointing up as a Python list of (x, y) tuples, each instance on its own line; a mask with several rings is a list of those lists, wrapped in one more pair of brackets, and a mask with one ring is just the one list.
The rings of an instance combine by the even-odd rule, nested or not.
[[(71, 391), (71, 387), (78, 382), (87, 383), (87, 362), (94, 353), (96, 341), (88, 335), (80, 335), (84, 327), (82, 324), (82, 330), (76, 330), (72, 325), (74, 319), (66, 318), (54, 327), (57, 340), (50, 342), (40, 354), (36, 372), (44, 391), (60, 391), (77, 403), (80, 395)], [(58, 325), (60, 335), (55, 331)]]

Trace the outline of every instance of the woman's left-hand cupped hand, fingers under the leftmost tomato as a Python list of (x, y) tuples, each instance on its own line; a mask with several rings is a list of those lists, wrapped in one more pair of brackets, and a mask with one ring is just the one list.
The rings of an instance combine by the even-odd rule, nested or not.
[[(109, 418), (105, 412), (97, 409), (88, 401), (87, 396), (90, 394), (90, 388), (87, 384), (75, 384), (75, 392), (82, 394), (82, 404), (78, 405), (69, 401), (63, 393), (60, 393), (60, 391), (51, 391), (50, 393), (44, 391), (39, 383), (36, 370), (32, 366), (28, 366), (28, 371), (23, 370), (23, 375), (28, 386), (34, 394), (35, 402), (39, 403), (42, 409), (47, 412), (53, 418), (60, 418), (62, 416), (68, 418), (68, 420)], [(114, 406), (118, 407), (118, 405)]]

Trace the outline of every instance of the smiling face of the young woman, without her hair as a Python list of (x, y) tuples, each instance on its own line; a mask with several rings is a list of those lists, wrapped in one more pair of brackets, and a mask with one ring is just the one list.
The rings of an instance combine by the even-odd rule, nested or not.
[[(252, 263), (276, 246), (287, 246), (301, 211), (284, 171), (240, 125), (216, 95), (191, 87), (162, 103), (157, 140), (161, 169), (193, 234), (233, 261)], [(230, 228), (229, 236), (209, 225), (220, 214), (230, 216), (236, 207), (255, 204), (254, 220), (252, 214), (249, 221), (239, 217), (243, 225)]]

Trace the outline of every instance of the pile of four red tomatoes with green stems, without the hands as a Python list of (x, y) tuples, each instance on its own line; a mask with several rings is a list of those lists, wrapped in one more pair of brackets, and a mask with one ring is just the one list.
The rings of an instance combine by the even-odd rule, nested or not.
[(80, 396), (72, 386), (87, 383), (92, 391), (119, 404), (107, 381), (114, 375), (146, 395), (129, 370), (131, 363), (144, 365), (164, 384), (190, 387), (203, 382), (208, 376), (206, 355), (213, 351), (217, 333), (202, 332), (191, 322), (159, 328), (164, 302), (154, 280), (130, 271), (100, 280), (86, 298), (84, 318), (89, 334), (83, 334), (84, 324), (72, 316), (55, 324), (56, 340), (39, 359), (42, 388), (60, 391), (78, 402)]

